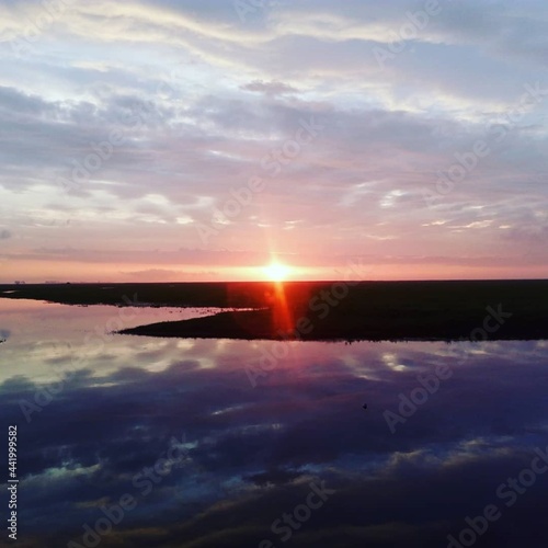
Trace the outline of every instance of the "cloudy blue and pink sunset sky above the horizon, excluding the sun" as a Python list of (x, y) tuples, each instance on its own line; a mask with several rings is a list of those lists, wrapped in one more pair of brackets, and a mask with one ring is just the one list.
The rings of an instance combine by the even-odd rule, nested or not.
[(0, 282), (547, 277), (544, 1), (0, 21)]

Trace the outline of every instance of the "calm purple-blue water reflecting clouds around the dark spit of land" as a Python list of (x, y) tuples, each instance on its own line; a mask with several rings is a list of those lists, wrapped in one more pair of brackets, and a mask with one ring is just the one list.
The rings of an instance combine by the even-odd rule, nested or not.
[(202, 313), (0, 299), (19, 546), (546, 546), (547, 341), (111, 334)]

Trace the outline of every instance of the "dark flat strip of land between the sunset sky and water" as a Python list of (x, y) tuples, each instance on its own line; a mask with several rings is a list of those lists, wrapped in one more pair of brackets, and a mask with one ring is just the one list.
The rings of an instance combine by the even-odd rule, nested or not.
[(70, 305), (230, 309), (123, 331), (152, 336), (548, 339), (548, 281), (0, 285), (0, 295)]

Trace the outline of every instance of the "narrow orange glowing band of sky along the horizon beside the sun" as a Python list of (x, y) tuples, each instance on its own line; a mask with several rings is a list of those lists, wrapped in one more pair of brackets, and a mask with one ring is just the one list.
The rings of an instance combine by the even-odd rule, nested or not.
[[(273, 259), (272, 263), (277, 263)], [(284, 263), (282, 263), (284, 264)], [(424, 263), (397, 264), (393, 262), (365, 264), (347, 272), (344, 264), (286, 265), (282, 282), (290, 281), (413, 281), (413, 279), (546, 279), (546, 265), (521, 264), (511, 261), (503, 266), (467, 266)], [(267, 274), (269, 265), (235, 264), (151, 264), (141, 262), (78, 262), (76, 260), (9, 259), (0, 261), (2, 284), (24, 279), (27, 284), (43, 284), (46, 279), (61, 283), (185, 283), (185, 282), (276, 282)], [(279, 273), (278, 273), (279, 274)], [(278, 277), (276, 270), (274, 277)]]

